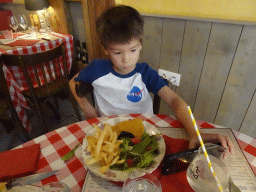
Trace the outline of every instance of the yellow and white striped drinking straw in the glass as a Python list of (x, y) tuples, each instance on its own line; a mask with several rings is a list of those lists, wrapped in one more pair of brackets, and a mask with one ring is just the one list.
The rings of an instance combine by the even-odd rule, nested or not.
[(188, 106), (188, 112), (189, 112), (189, 115), (190, 115), (190, 117), (191, 117), (191, 119), (192, 119), (192, 122), (193, 122), (194, 128), (195, 128), (195, 130), (196, 130), (196, 134), (197, 134), (197, 137), (198, 137), (198, 139), (199, 139), (200, 145), (201, 145), (201, 147), (203, 148), (204, 156), (205, 156), (205, 158), (206, 158), (206, 160), (207, 160), (207, 162), (208, 162), (209, 169), (211, 170), (212, 175), (213, 175), (213, 177), (215, 178), (215, 180), (216, 180), (216, 182), (217, 182), (219, 191), (222, 192), (222, 191), (223, 191), (223, 188), (222, 188), (222, 186), (221, 186), (221, 184), (220, 184), (219, 179), (217, 178), (217, 175), (216, 175), (215, 171), (214, 171), (213, 168), (212, 168), (212, 163), (211, 163), (211, 161), (210, 161), (210, 159), (209, 159), (208, 153), (207, 153), (207, 151), (206, 151), (206, 149), (205, 149), (205, 146), (204, 146), (204, 142), (203, 142), (202, 137), (201, 137), (201, 135), (200, 135), (200, 133), (199, 133), (199, 129), (198, 129), (197, 125), (196, 125), (195, 118), (194, 118), (194, 116), (193, 116), (193, 114), (192, 114), (192, 111), (191, 111), (191, 109), (190, 109), (189, 106)]

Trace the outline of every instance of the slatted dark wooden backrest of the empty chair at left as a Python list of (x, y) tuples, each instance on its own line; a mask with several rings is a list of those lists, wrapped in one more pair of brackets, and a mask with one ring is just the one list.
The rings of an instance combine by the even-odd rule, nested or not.
[[(45, 91), (51, 92), (53, 89), (49, 86), (50, 82), (58, 80), (60, 81), (59, 85), (65, 84), (63, 81), (68, 82), (69, 72), (65, 57), (65, 46), (63, 44), (40, 53), (26, 55), (3, 54), (0, 60), (1, 68), (5, 64), (7, 67), (12, 66), (22, 70), (24, 77), (20, 79), (26, 79), (26, 81), (22, 81), (25, 91), (33, 90), (39, 95), (44, 95)], [(46, 89), (40, 89), (43, 86)], [(34, 88), (39, 89), (35, 91)], [(33, 95), (32, 92), (30, 93)]]

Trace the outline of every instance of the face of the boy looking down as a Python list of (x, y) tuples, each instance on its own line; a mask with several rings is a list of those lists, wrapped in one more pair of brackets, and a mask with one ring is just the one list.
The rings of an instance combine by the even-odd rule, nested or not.
[(139, 39), (126, 44), (112, 44), (105, 49), (106, 55), (113, 63), (114, 70), (122, 75), (132, 72), (140, 56), (142, 46)]

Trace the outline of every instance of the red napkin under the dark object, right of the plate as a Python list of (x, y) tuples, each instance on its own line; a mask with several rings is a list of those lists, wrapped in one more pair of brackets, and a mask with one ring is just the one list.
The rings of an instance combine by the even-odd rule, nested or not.
[[(184, 150), (188, 149), (189, 141), (187, 141), (187, 140), (173, 139), (166, 135), (163, 135), (163, 138), (165, 140), (165, 145), (166, 145), (165, 155), (170, 155), (170, 154), (177, 153), (177, 152), (184, 151)], [(177, 165), (177, 166), (181, 166), (181, 165)], [(186, 170), (180, 171), (180, 172), (177, 172), (174, 174), (162, 175), (161, 164), (160, 164), (160, 166), (155, 171), (153, 171), (152, 174), (154, 174), (160, 181), (163, 192), (165, 192), (165, 191), (194, 192), (194, 190), (190, 187), (190, 185), (187, 181)], [(113, 183), (115, 183), (119, 186), (123, 186), (122, 182), (113, 182)]]

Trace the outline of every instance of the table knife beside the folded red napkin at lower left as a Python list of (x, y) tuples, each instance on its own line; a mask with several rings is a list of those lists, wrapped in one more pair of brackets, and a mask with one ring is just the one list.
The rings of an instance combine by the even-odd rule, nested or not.
[(52, 175), (54, 175), (57, 171), (59, 170), (55, 170), (55, 171), (50, 171), (50, 172), (44, 172), (44, 173), (38, 173), (38, 174), (34, 174), (34, 175), (29, 175), (29, 176), (25, 176), (25, 177), (20, 177), (17, 179), (14, 179), (10, 185), (7, 185), (7, 189), (11, 189), (13, 186), (17, 186), (17, 185), (30, 185), (32, 183), (36, 183), (38, 181), (41, 181), (47, 177), (50, 177)]

